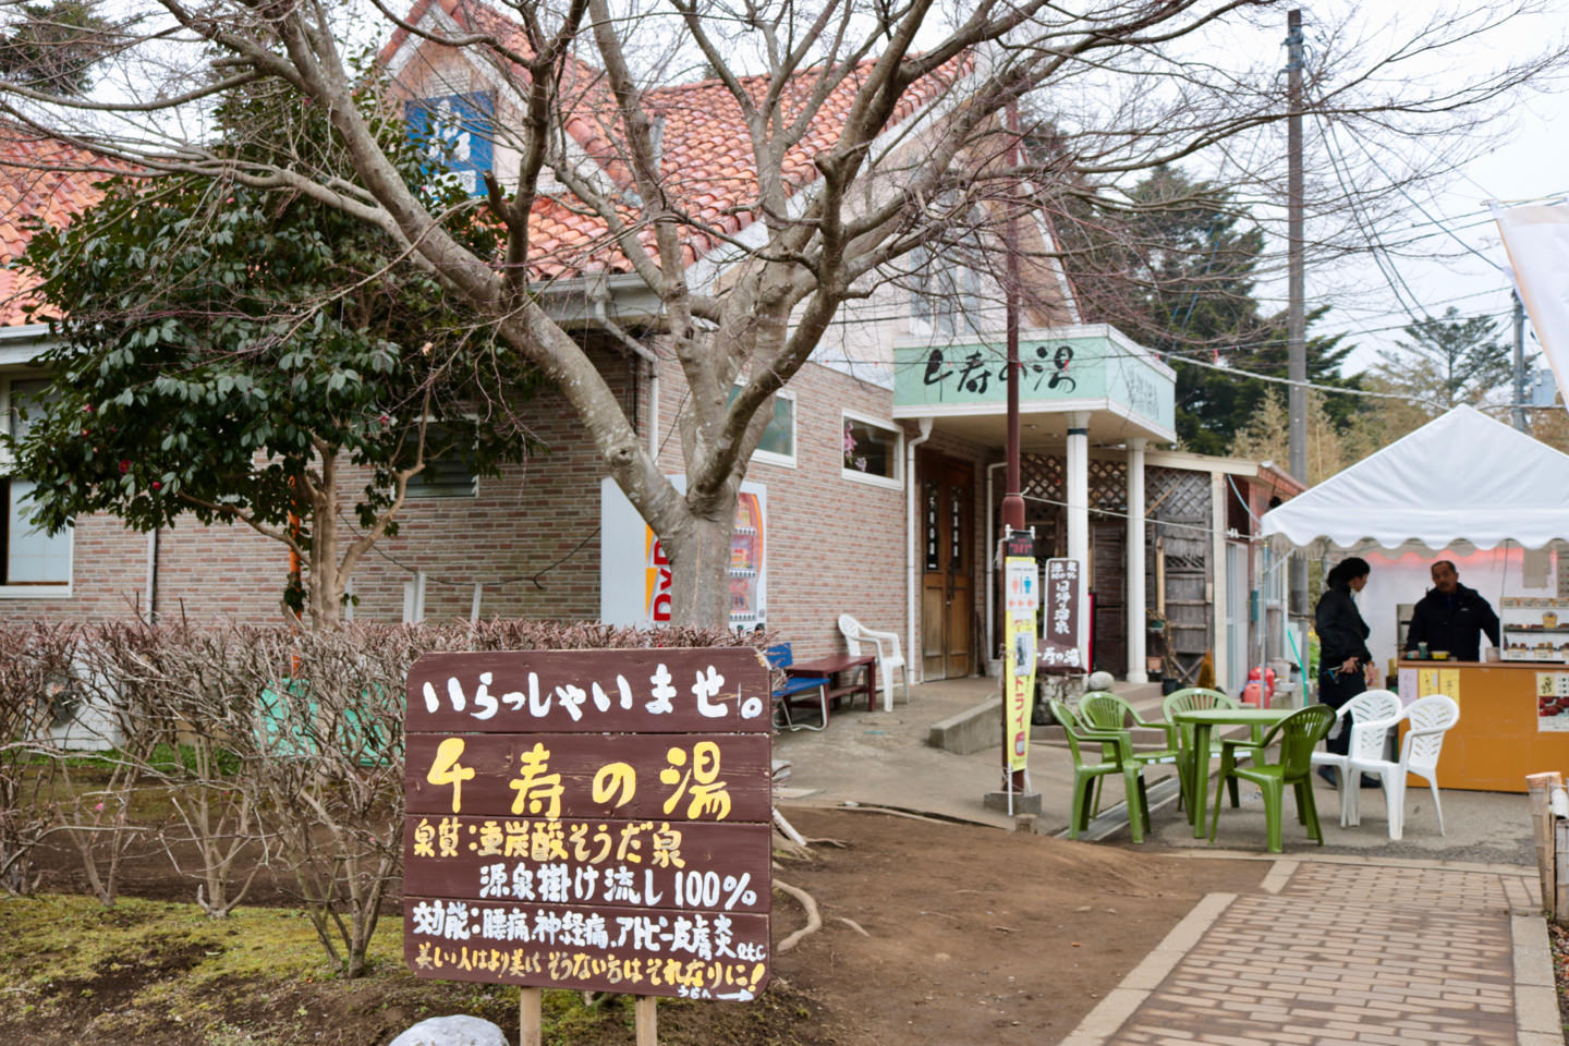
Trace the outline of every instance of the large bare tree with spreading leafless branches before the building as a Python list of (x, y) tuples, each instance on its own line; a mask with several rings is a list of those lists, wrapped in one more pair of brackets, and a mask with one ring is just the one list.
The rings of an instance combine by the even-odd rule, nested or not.
[[(1279, 38), (1283, 9), (1268, 0), (1097, 0), (1073, 13), (1048, 0), (367, 3), (144, 0), (135, 31), (115, 41), (113, 93), (0, 85), (0, 110), (110, 160), (309, 196), (383, 231), (562, 390), (661, 535), (673, 618), (686, 623), (726, 616), (730, 528), (764, 408), (846, 301), (977, 210), (1003, 218), (1018, 179), (1098, 193), (1268, 135), (1287, 111), (1283, 60), (1247, 64), (1232, 45), (1263, 27)], [(1563, 52), (1475, 75), (1437, 67), (1434, 53), (1536, 6), (1437, 13), (1398, 36), (1324, 27), (1313, 113), (1390, 136), (1469, 129)], [(475, 205), (505, 229), (501, 257), (464, 248), (447, 215), (420, 204), (355, 104), (356, 49), (389, 28), (394, 94), (450, 94), (438, 88), (452, 61), (496, 85), (493, 144), (510, 151), (516, 180), (488, 174)], [(355, 177), (304, 155), (237, 163), (210, 147), (201, 113), (257, 83), (326, 111)], [(1010, 163), (998, 114), (1020, 99), (1053, 114), (1056, 146)], [(712, 165), (665, 147), (693, 119), (723, 140)], [(656, 365), (673, 361), (689, 390), (684, 492), (552, 304), (592, 293), (607, 271), (657, 303)]]

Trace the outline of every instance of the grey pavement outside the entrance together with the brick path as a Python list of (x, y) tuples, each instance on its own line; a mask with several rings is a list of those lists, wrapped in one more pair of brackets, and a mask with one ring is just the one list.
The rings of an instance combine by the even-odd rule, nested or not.
[[(924, 743), (930, 723), (984, 699), (988, 684), (915, 687), (893, 714), (846, 709), (822, 734), (781, 737), (775, 756), (794, 762), (794, 801), (1010, 828), (981, 804), (999, 778), (998, 748), (956, 756)], [(1037, 831), (1054, 833), (1067, 820), (1072, 761), (1065, 748), (1034, 745), (1029, 767), (1045, 798)], [(1116, 786), (1108, 792), (1120, 798)], [(1523, 795), (1445, 790), (1440, 836), (1426, 792), (1414, 792), (1401, 842), (1389, 841), (1378, 798), (1363, 801), (1360, 828), (1340, 828), (1327, 786), (1318, 808), (1327, 845), (1312, 845), (1288, 814), (1283, 858), (1260, 853), (1257, 790), (1244, 787), (1241, 809), (1221, 815), (1219, 844), (1236, 850), (1194, 839), (1174, 803), (1158, 809), (1152, 841), (1172, 859), (1268, 859), (1272, 869), (1255, 892), (1210, 894), (1152, 942), (1065, 1046), (1564, 1046)]]

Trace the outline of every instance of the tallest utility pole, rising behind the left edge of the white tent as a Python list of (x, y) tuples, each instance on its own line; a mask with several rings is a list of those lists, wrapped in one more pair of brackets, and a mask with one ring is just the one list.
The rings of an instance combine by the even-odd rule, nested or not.
[[(1302, 263), (1302, 11), (1287, 13), (1287, 394), (1291, 477), (1307, 483), (1307, 281)], [(1291, 558), (1291, 613), (1307, 613), (1307, 560)]]

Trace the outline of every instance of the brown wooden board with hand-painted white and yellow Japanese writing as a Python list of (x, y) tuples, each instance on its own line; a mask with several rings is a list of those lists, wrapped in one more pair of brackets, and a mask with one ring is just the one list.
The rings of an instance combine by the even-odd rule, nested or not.
[(427, 654), (408, 676), (419, 977), (745, 1001), (769, 979), (769, 670), (750, 648)]

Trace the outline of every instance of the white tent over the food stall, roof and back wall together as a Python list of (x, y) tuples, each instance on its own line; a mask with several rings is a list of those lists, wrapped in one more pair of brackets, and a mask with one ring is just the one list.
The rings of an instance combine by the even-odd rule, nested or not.
[[(1494, 608), (1506, 594), (1555, 596), (1569, 541), (1569, 455), (1469, 406), (1265, 513), (1279, 552), (1354, 552), (1373, 568), (1357, 596), (1382, 665), (1396, 654), (1396, 608), (1428, 588), (1432, 560)], [(1525, 549), (1558, 550), (1552, 555)], [(1563, 580), (1563, 579), (1558, 579)]]

